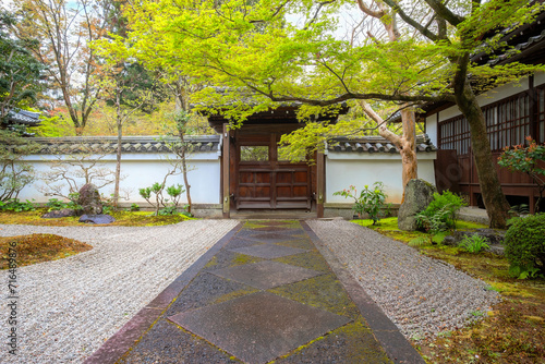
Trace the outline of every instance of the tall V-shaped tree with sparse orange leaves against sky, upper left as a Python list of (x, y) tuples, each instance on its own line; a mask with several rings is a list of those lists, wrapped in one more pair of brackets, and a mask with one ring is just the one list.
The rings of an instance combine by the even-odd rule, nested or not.
[(17, 36), (40, 39), (32, 51), (47, 66), (50, 96), (62, 99), (82, 135), (99, 92), (92, 77), (100, 65), (89, 44), (108, 31), (110, 1), (14, 0), (14, 7), (22, 17)]

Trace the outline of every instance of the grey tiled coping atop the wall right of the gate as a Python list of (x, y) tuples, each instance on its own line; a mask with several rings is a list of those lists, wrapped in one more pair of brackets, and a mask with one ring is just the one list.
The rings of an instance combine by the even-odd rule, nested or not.
[[(399, 153), (399, 148), (382, 136), (366, 136), (362, 138), (336, 137), (328, 143), (331, 151), (365, 151), (365, 153)], [(426, 134), (416, 136), (416, 151), (436, 151)]]

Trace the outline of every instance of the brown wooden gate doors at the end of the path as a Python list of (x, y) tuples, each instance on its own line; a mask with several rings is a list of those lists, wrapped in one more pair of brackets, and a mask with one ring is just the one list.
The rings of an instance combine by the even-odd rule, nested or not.
[(311, 169), (306, 162), (279, 160), (278, 139), (274, 133), (237, 137), (237, 209), (311, 209)]

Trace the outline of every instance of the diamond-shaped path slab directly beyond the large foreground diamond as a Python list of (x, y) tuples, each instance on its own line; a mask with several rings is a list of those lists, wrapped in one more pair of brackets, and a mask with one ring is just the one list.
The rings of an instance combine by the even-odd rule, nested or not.
[(232, 279), (261, 290), (299, 282), (304, 279), (320, 276), (324, 272), (290, 266), (278, 262), (257, 262), (238, 267), (210, 271), (221, 278)]

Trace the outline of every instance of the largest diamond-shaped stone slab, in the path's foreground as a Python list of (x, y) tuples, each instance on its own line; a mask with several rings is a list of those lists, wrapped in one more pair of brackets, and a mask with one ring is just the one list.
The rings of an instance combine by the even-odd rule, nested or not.
[(245, 363), (267, 363), (351, 321), (268, 292), (181, 313), (169, 319)]

